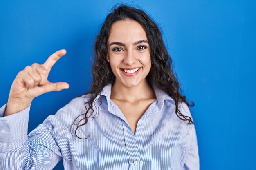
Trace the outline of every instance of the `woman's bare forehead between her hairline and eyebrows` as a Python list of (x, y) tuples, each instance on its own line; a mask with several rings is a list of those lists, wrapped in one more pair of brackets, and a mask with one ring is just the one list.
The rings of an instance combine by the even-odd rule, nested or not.
[(146, 32), (139, 22), (134, 20), (122, 20), (112, 24), (108, 37), (108, 43), (136, 42), (138, 40), (148, 40)]

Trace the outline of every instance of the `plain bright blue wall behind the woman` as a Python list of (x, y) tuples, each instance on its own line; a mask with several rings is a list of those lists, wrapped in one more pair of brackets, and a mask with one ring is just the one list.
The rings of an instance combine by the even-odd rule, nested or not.
[[(94, 38), (110, 0), (0, 1), (0, 105), (17, 73), (43, 64), (58, 49), (67, 54), (49, 81), (68, 90), (45, 93), (31, 104), (29, 132), (85, 93), (92, 80)], [(256, 170), (256, 1), (147, 0), (144, 9), (162, 29), (198, 135), (201, 170)], [(62, 161), (54, 170), (63, 169)]]

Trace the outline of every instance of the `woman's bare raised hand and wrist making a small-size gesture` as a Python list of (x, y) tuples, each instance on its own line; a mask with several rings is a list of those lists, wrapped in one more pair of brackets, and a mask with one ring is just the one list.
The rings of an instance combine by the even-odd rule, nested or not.
[(11, 85), (5, 116), (24, 110), (43, 93), (69, 88), (66, 82), (52, 83), (47, 79), (52, 66), (65, 54), (65, 49), (56, 51), (44, 64), (34, 63), (18, 73)]

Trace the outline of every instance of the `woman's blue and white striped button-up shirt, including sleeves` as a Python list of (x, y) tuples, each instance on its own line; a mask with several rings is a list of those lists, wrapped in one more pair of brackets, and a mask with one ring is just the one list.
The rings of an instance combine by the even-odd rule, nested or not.
[[(110, 99), (111, 84), (105, 86), (93, 104), (97, 118), (79, 128), (79, 137), (90, 135), (85, 140), (74, 135), (76, 125), (70, 132), (70, 125), (85, 113), (90, 95), (72, 99), (29, 135), (30, 106), (3, 117), (5, 104), (0, 108), (0, 170), (51, 170), (61, 159), (65, 170), (199, 170), (194, 125), (177, 117), (170, 96), (154, 91), (157, 99), (139, 119), (134, 135)], [(186, 104), (180, 110), (191, 116)]]

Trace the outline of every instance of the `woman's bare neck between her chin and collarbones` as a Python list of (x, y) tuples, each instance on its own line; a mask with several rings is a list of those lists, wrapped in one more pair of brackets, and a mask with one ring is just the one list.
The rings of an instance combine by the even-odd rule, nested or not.
[(127, 102), (137, 102), (144, 99), (155, 99), (155, 92), (148, 85), (146, 79), (135, 87), (126, 87), (118, 81), (112, 86), (111, 99)]

